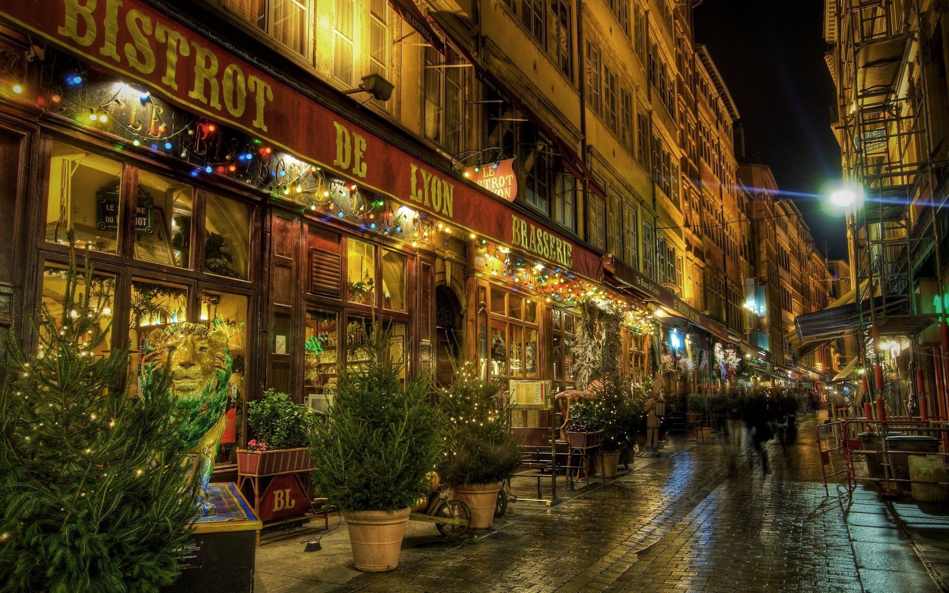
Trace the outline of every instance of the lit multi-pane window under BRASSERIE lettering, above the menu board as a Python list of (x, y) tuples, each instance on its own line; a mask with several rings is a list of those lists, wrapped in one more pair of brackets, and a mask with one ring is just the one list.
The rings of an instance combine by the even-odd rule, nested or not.
[(496, 377), (538, 377), (537, 302), (524, 295), (491, 288), (489, 350)]

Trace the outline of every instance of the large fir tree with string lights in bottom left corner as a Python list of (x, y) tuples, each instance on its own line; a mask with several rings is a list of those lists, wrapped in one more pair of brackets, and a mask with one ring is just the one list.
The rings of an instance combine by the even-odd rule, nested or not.
[(0, 588), (158, 591), (180, 572), (197, 482), (180, 451), (167, 367), (130, 398), (126, 353), (98, 356), (113, 329), (114, 285), (87, 257), (83, 268), (70, 247), (62, 302), (40, 305), (32, 320), (39, 354), (6, 332)]

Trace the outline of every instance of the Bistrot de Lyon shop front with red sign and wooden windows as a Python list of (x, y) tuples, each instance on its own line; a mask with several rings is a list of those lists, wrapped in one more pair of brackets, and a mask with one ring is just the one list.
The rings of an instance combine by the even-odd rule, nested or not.
[[(3, 49), (24, 57), (0, 71), (15, 188), (0, 207), (16, 237), (0, 322), (62, 303), (74, 232), (107, 287), (101, 355), (128, 352), (133, 393), (152, 331), (192, 322), (227, 338), (218, 469), (265, 388), (326, 410), (373, 323), (403, 375), (433, 365), (450, 380), (463, 335), (494, 377), (572, 385), (573, 305), (602, 277), (598, 253), (150, 5), (41, 15), (17, 0), (0, 22)], [(625, 363), (642, 372), (646, 350), (630, 340)]]

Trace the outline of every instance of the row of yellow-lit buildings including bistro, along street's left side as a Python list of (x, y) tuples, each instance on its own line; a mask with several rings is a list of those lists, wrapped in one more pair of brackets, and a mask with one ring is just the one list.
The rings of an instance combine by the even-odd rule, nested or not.
[(62, 303), (71, 230), (114, 295), (102, 355), (131, 378), (151, 331), (226, 328), (235, 407), (326, 409), (374, 321), (405, 372), (460, 355), (554, 392), (588, 299), (623, 310), (624, 371), (679, 397), (703, 382), (679, 369), (762, 350), (738, 111), (688, 3), (14, 0), (0, 23), (5, 330)]

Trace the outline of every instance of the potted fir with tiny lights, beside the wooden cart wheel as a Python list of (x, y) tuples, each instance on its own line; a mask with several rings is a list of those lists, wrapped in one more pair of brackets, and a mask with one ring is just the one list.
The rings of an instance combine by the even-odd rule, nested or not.
[(521, 464), (520, 441), (508, 427), (503, 382), (482, 379), (470, 362), (454, 366), (454, 382), (438, 394), (445, 418), (438, 475), (471, 509), (471, 527), (490, 528), (501, 482)]

